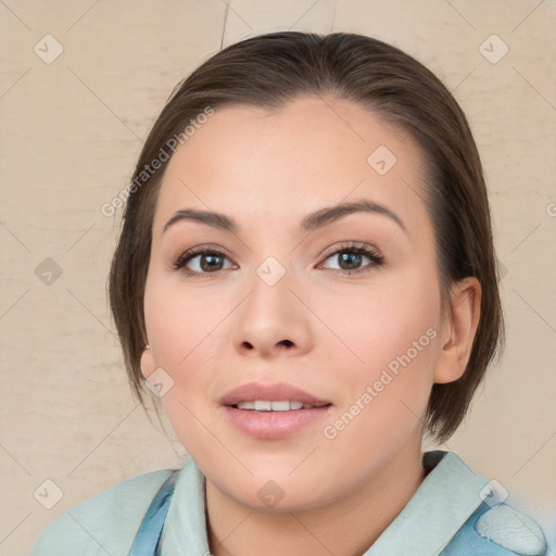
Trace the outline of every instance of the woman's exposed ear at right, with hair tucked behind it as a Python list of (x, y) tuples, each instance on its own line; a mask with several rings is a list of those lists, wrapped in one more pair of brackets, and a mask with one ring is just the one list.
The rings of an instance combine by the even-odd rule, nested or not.
[(453, 382), (463, 376), (481, 315), (482, 289), (475, 277), (456, 282), (441, 326), (441, 350), (434, 366), (434, 382)]

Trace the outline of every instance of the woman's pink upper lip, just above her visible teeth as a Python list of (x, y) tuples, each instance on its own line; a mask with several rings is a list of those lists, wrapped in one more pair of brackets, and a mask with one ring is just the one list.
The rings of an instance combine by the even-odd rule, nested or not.
[(315, 397), (301, 388), (286, 382), (275, 384), (248, 382), (224, 394), (220, 399), (220, 404), (236, 405), (240, 402), (255, 402), (257, 400), (271, 402), (289, 400), (292, 402), (302, 402), (304, 404), (314, 405), (316, 407), (330, 404), (327, 400)]

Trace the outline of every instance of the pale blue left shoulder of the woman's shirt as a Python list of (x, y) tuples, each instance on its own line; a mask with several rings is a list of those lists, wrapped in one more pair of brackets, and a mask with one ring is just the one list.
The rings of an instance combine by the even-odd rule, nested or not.
[(71, 507), (43, 530), (30, 556), (127, 554), (149, 504), (173, 472), (131, 477)]

